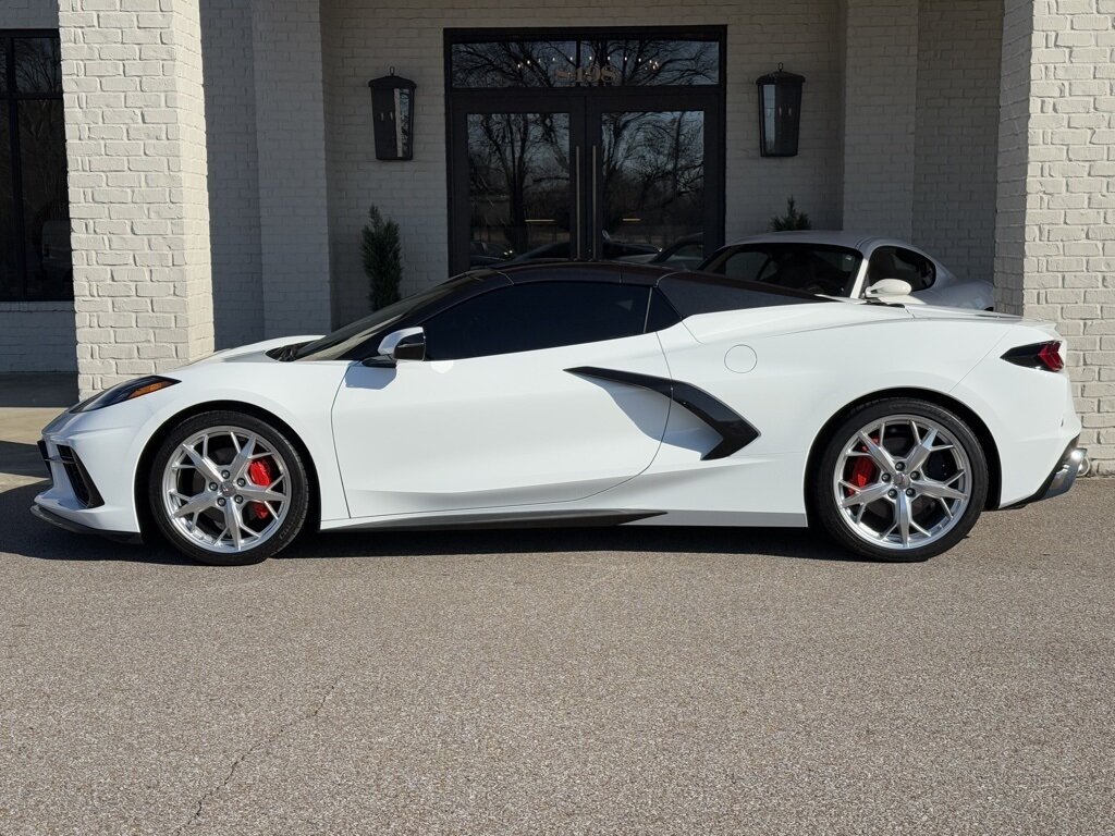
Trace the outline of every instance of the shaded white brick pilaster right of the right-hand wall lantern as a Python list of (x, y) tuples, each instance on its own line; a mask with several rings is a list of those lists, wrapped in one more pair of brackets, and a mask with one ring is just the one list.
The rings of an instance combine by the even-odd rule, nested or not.
[(918, 0), (847, 0), (844, 229), (910, 239)]

